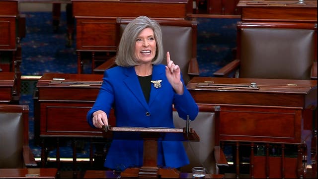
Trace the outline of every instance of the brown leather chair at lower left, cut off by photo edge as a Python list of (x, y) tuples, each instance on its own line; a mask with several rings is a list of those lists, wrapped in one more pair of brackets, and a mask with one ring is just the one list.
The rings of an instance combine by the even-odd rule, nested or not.
[(37, 166), (28, 133), (29, 107), (0, 104), (0, 168)]

